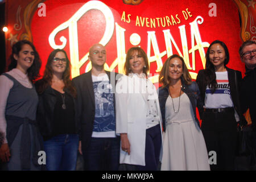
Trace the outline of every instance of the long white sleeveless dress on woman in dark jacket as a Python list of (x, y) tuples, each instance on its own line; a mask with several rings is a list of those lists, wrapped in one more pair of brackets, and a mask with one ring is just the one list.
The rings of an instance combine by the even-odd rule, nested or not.
[[(179, 97), (173, 98), (175, 110)], [(187, 94), (180, 96), (174, 113), (171, 96), (166, 101), (166, 133), (161, 170), (210, 170), (203, 134), (193, 117)]]

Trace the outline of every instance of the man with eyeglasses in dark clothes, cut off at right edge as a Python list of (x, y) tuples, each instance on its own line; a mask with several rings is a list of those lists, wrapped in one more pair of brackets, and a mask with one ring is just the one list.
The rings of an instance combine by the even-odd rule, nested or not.
[(247, 40), (239, 49), (241, 61), (245, 63), (245, 77), (241, 84), (241, 105), (243, 113), (250, 110), (256, 149), (256, 43)]

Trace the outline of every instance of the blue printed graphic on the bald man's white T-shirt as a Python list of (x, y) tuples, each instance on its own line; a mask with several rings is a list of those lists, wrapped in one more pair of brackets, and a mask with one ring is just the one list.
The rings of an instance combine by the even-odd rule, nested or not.
[[(99, 85), (100, 84), (100, 85)], [(106, 88), (104, 88), (106, 86)], [(100, 87), (100, 89), (99, 89)], [(109, 81), (93, 82), (95, 97), (94, 132), (114, 131), (114, 95)]]

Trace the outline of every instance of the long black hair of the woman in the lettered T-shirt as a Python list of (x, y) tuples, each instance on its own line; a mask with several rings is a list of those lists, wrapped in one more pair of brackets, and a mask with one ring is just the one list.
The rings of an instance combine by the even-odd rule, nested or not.
[(225, 51), (225, 60), (224, 60), (224, 67), (226, 67), (226, 64), (229, 63), (229, 50), (228, 47), (226, 47), (226, 44), (224, 42), (221, 42), (220, 40), (214, 40), (210, 46), (207, 49), (207, 53), (205, 54), (205, 82), (209, 86), (209, 88), (213, 88), (212, 93), (215, 92), (217, 88), (217, 81), (216, 81), (216, 73), (215, 73), (215, 68), (214, 65), (210, 62), (210, 48), (213, 46), (213, 44), (220, 44)]

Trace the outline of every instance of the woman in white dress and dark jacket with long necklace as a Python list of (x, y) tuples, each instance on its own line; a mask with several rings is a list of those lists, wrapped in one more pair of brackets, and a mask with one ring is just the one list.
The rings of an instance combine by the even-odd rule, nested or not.
[(169, 57), (162, 68), (159, 103), (164, 139), (161, 170), (209, 170), (207, 148), (196, 117), (196, 105), (203, 108), (200, 91), (192, 82), (184, 60)]

